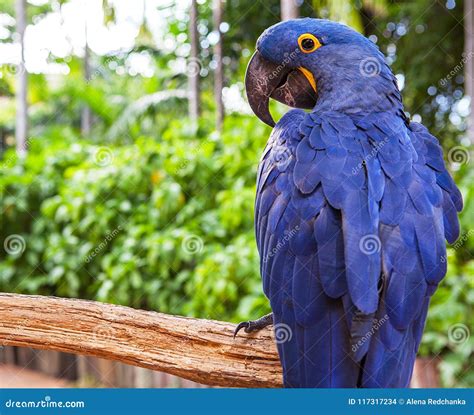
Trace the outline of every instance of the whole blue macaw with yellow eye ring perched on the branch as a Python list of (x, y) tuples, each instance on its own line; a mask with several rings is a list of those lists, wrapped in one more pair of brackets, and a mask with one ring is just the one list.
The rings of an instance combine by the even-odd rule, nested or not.
[[(268, 28), (246, 91), (274, 126), (255, 204), (273, 313), (236, 333), (273, 323), (286, 387), (407, 387), (463, 204), (438, 140), (377, 46), (328, 20)], [(298, 109), (275, 125), (270, 97)]]

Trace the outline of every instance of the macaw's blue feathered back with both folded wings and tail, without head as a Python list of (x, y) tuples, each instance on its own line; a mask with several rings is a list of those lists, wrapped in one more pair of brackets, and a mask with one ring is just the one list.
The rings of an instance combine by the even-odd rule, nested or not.
[(407, 385), (461, 208), (422, 126), (380, 113), (280, 120), (260, 164), (256, 233), (276, 326), (292, 334), (278, 344), (287, 385), (355, 386), (364, 356), (363, 386)]

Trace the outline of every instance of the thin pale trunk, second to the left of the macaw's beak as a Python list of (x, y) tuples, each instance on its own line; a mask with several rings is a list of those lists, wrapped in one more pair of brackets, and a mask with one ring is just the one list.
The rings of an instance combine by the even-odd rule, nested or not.
[(199, 99), (199, 72), (201, 63), (199, 61), (199, 34), (197, 30), (198, 9), (197, 1), (191, 1), (191, 9), (189, 13), (189, 38), (191, 43), (191, 54), (189, 57), (188, 72), (188, 88), (189, 88), (189, 117), (196, 123), (200, 112)]

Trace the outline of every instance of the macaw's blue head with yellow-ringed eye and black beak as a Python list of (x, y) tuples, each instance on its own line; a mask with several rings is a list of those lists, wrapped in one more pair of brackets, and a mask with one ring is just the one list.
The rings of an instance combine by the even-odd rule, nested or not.
[(270, 97), (304, 109), (323, 99), (333, 101), (332, 109), (335, 102), (354, 105), (354, 98), (369, 106), (376, 94), (367, 97), (367, 90), (393, 88), (393, 75), (377, 46), (360, 33), (329, 20), (304, 18), (263, 32), (245, 83), (252, 110), (273, 126)]

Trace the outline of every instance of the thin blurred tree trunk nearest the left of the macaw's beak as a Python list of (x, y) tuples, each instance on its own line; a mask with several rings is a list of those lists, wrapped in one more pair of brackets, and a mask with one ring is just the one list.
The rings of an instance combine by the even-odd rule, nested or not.
[(213, 0), (212, 3), (212, 20), (214, 31), (219, 34), (219, 40), (214, 46), (214, 60), (216, 62), (216, 71), (214, 75), (214, 99), (216, 101), (216, 127), (218, 131), (222, 130), (222, 123), (224, 122), (224, 103), (222, 101), (222, 88), (224, 87), (224, 68), (222, 65), (222, 12), (223, 0)]

